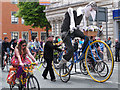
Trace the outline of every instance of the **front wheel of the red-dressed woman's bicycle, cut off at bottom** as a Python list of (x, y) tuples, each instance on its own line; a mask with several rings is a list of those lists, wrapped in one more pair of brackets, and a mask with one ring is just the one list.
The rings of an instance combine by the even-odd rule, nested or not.
[(35, 76), (30, 76), (27, 81), (27, 90), (40, 90), (38, 80)]

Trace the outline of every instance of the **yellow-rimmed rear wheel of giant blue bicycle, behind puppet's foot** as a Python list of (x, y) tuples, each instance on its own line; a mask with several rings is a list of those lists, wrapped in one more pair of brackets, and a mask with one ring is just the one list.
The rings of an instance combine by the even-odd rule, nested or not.
[[(58, 63), (60, 62), (60, 60), (62, 60), (62, 57), (63, 57), (64, 53), (65, 53), (65, 52), (60, 52), (59, 55), (58, 55), (58, 58), (57, 58), (57, 60), (56, 60), (57, 62), (54, 61), (54, 60), (53, 60), (53, 62), (52, 62), (53, 70), (55, 71), (55, 73), (56, 73), (58, 76), (60, 76), (60, 74), (59, 74), (59, 69), (58, 69), (56, 66), (58, 65)], [(65, 75), (62, 75), (62, 77), (63, 77), (63, 76), (67, 76), (67, 75), (71, 72), (72, 67), (73, 67), (73, 62), (74, 62), (74, 59), (73, 59), (73, 57), (72, 57), (72, 58), (69, 60), (69, 62), (66, 63), (66, 66), (69, 68), (69, 72), (66, 73)]]

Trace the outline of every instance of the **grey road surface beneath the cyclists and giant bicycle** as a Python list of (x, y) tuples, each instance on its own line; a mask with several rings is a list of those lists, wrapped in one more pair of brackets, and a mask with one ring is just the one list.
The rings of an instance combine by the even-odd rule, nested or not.
[[(71, 75), (71, 79), (70, 81), (68, 81), (68, 83), (63, 83), (59, 76), (56, 75), (56, 82), (51, 82), (50, 81), (50, 76), (48, 74), (48, 80), (44, 80), (42, 78), (42, 72), (44, 70), (44, 68), (41, 68), (41, 71), (34, 71), (34, 75), (37, 77), (40, 87), (42, 89), (47, 88), (48, 89), (58, 89), (58, 88), (118, 88), (118, 84), (120, 84), (120, 82), (118, 82), (118, 75), (120, 75), (120, 69), (118, 69), (118, 65), (120, 65), (120, 63), (118, 64), (118, 62), (115, 62), (115, 67), (114, 67), (114, 72), (111, 76), (111, 78), (104, 82), (104, 83), (98, 83), (93, 81), (90, 76), (86, 76), (86, 75), (82, 75), (82, 74), (76, 74), (76, 75)], [(79, 71), (79, 68), (77, 69), (77, 71)], [(118, 72), (119, 71), (119, 72)], [(72, 72), (74, 72), (74, 68), (72, 70)], [(1, 88), (9, 88), (9, 85), (6, 82), (6, 78), (7, 78), (7, 74), (8, 72), (4, 71), (2, 72), (0, 69), (0, 80), (2, 82), (0, 82), (0, 89)]]

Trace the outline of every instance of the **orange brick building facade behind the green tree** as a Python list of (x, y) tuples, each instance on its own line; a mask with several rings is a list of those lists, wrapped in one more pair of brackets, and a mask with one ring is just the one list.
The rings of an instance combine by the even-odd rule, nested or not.
[(11, 0), (10, 2), (1, 2), (1, 18), (0, 18), (0, 39), (8, 37), (11, 39), (25, 39), (27, 42), (31, 39), (34, 40), (38, 37), (39, 40), (46, 39), (45, 28), (31, 28), (31, 26), (25, 26), (22, 18), (15, 17), (14, 14), (18, 11), (17, 3), (18, 0)]

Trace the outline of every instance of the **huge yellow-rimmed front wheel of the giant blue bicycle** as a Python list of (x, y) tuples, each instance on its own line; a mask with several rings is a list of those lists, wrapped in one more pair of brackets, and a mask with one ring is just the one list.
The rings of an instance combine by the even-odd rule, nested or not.
[(85, 66), (94, 81), (107, 81), (114, 68), (113, 54), (109, 46), (100, 40), (90, 43), (85, 53)]

